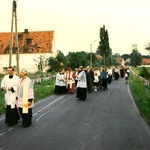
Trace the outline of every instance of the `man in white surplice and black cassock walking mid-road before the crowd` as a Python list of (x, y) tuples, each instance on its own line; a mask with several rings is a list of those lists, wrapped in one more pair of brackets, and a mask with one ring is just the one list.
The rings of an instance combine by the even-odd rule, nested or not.
[(79, 67), (79, 74), (77, 76), (77, 95), (76, 98), (79, 100), (85, 101), (87, 98), (87, 81), (86, 81), (86, 73), (83, 70), (83, 67)]

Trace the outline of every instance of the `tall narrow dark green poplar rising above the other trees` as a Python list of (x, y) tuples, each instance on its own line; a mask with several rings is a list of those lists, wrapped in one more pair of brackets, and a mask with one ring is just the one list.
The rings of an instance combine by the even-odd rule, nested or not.
[(108, 31), (105, 29), (105, 25), (100, 28), (100, 42), (96, 53), (103, 56), (104, 65), (110, 64), (109, 57), (112, 52), (109, 47), (109, 36)]

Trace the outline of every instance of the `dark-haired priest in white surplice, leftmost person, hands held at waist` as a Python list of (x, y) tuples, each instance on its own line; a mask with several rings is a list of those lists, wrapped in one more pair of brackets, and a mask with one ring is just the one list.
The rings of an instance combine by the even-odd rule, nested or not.
[(5, 123), (8, 126), (17, 124), (20, 116), (16, 106), (17, 85), (19, 77), (14, 74), (14, 68), (8, 67), (8, 75), (5, 75), (1, 82), (1, 89), (5, 92), (6, 117)]

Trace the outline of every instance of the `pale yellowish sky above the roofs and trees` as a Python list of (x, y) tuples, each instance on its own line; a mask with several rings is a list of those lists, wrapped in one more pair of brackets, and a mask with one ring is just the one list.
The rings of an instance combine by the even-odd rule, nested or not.
[[(0, 0), (0, 32), (11, 31), (13, 0)], [(96, 52), (100, 28), (108, 30), (113, 54), (130, 54), (137, 44), (149, 55), (150, 0), (18, 0), (18, 32), (54, 30), (54, 47), (68, 52)]]

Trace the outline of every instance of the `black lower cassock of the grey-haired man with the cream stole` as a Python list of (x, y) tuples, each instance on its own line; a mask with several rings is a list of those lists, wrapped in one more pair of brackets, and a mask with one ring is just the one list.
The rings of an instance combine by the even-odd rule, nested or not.
[(28, 109), (28, 113), (22, 113), (23, 109), (19, 107), (19, 113), (22, 117), (22, 125), (23, 127), (29, 127), (32, 123), (32, 108)]

